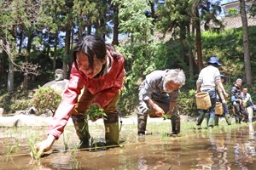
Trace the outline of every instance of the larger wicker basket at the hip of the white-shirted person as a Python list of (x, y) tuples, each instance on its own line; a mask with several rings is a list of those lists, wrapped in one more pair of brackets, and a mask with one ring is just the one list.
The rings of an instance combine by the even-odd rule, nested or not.
[(195, 94), (195, 101), (197, 109), (207, 110), (212, 106), (208, 92)]

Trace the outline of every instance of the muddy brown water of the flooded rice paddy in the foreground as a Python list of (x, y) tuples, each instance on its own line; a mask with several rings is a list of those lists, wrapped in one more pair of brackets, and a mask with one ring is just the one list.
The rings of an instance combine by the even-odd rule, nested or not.
[[(67, 151), (63, 151), (63, 139), (59, 139), (51, 154), (36, 161), (28, 155), (27, 139), (31, 138), (29, 133), (40, 132), (38, 136), (44, 136), (46, 130), (2, 128), (0, 169), (255, 169), (254, 129), (256, 132), (255, 123), (224, 133), (197, 130), (182, 133), (180, 137), (164, 137), (157, 132), (138, 139), (136, 129), (123, 127), (123, 147), (89, 152), (71, 149), (78, 142), (71, 128), (66, 132)], [(93, 135), (96, 139), (103, 137), (99, 129)], [(8, 153), (11, 146), (15, 149)]]

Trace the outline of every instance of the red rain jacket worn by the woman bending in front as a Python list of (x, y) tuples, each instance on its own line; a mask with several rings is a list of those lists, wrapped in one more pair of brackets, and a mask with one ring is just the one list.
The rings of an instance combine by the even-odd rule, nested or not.
[(80, 91), (84, 86), (90, 90), (91, 94), (98, 94), (94, 102), (100, 104), (102, 107), (108, 105), (114, 95), (122, 88), (125, 77), (125, 59), (123, 56), (120, 56), (118, 61), (114, 61), (112, 56), (110, 56), (110, 59), (110, 71), (106, 75), (98, 78), (88, 78), (79, 74), (73, 64), (63, 100), (57, 111), (55, 111), (55, 116), (50, 123), (49, 134), (55, 136), (56, 139), (60, 137), (78, 101)]

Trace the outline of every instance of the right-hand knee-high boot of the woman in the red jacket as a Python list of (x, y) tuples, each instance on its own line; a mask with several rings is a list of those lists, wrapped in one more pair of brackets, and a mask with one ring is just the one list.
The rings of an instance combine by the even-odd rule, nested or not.
[(119, 144), (119, 115), (118, 113), (108, 114), (104, 120), (105, 139), (107, 145)]

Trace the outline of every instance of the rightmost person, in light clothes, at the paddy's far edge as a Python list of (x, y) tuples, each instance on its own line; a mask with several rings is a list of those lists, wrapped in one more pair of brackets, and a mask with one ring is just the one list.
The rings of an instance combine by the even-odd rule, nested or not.
[(253, 112), (256, 111), (256, 105), (253, 104), (251, 94), (247, 93), (248, 88), (242, 88), (241, 101), (242, 105), (247, 109), (248, 121), (253, 122)]

